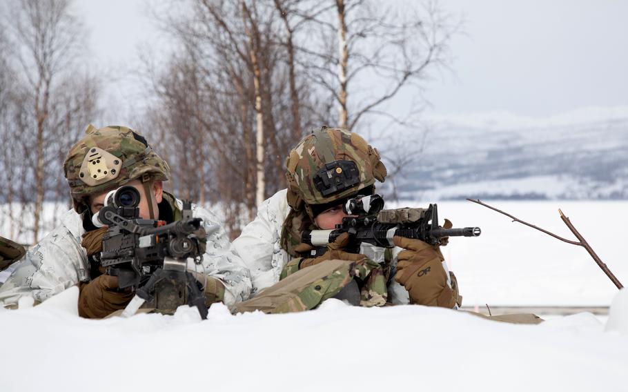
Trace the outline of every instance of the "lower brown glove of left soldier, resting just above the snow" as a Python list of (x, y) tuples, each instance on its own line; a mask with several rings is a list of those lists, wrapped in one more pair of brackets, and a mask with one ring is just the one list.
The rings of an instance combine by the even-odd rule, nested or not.
[(79, 315), (103, 318), (126, 308), (133, 298), (131, 288), (119, 288), (118, 277), (100, 275), (88, 283), (79, 283)]

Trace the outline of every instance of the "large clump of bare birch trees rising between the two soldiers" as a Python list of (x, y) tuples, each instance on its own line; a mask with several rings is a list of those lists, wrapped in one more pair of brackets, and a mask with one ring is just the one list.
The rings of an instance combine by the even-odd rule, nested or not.
[[(404, 90), (421, 95), (455, 30), (434, 3), (405, 4), (393, 12), (374, 0), (170, 3), (157, 19), (179, 49), (164, 68), (149, 67), (157, 99), (147, 119), (171, 129), (163, 137), (168, 159), (186, 172), (174, 188), (197, 197), (199, 184), (207, 187), (234, 235), (239, 214), (253, 219), (257, 205), (285, 187), (284, 157), (304, 130), (362, 132), (375, 116), (402, 124), (386, 106)], [(205, 157), (203, 170), (181, 161), (199, 147), (175, 148), (180, 140), (205, 144), (195, 154)]]

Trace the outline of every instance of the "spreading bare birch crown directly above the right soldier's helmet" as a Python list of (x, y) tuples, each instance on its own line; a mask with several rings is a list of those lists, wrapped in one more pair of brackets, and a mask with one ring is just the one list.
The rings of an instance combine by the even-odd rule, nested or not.
[(404, 115), (386, 104), (404, 90), (422, 104), (424, 84), (446, 66), (460, 23), (436, 1), (333, 0), (324, 11), (304, 16), (318, 39), (298, 50), (306, 75), (337, 104), (331, 117), (349, 130), (368, 116), (403, 124)]

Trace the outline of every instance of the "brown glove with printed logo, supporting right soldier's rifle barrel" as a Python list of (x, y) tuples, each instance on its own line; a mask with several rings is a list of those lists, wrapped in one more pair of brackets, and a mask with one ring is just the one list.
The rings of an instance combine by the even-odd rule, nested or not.
[(458, 285), (447, 284), (447, 271), (442, 266), (442, 253), (419, 239), (393, 237), (396, 246), (404, 248), (397, 256), (395, 281), (410, 294), (411, 304), (453, 308), (459, 302)]

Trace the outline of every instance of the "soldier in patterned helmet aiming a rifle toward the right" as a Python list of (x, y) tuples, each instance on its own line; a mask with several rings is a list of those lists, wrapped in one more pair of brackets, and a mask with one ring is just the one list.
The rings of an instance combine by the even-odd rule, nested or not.
[[(442, 253), (418, 239), (394, 237), (397, 246), (384, 252), (383, 263), (373, 260), (381, 248), (346, 253), (346, 235), (329, 244), (323, 255), (303, 257), (311, 246), (301, 243), (302, 231), (335, 228), (347, 216), (344, 202), (373, 194), (375, 181), (386, 177), (379, 153), (362, 137), (342, 129), (314, 130), (291, 150), (286, 166), (288, 189), (259, 206), (255, 220), (233, 242), (251, 271), (255, 296), (238, 304), (238, 311), (302, 311), (330, 297), (361, 306), (460, 306), (458, 284)], [(336, 166), (349, 168), (355, 178), (330, 190), (317, 177)]]

